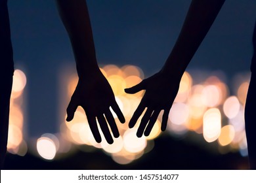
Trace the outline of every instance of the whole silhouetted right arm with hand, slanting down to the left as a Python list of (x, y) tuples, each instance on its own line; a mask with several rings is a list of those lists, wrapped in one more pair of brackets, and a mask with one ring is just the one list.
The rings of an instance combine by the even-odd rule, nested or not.
[(134, 127), (144, 109), (147, 108), (137, 131), (138, 137), (143, 133), (146, 136), (150, 134), (161, 110), (164, 110), (161, 130), (166, 129), (169, 110), (179, 90), (181, 77), (223, 3), (224, 0), (193, 0), (179, 38), (161, 71), (142, 80), (136, 86), (125, 89), (127, 93), (146, 90), (129, 122), (129, 127)]

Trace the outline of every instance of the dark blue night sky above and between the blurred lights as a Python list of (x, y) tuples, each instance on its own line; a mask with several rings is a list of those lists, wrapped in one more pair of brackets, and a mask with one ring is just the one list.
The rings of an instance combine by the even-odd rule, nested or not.
[[(179, 35), (190, 1), (87, 1), (100, 65), (158, 71)], [(255, 0), (227, 0), (188, 69), (249, 71)], [(14, 61), (27, 77), (32, 136), (58, 131), (58, 75), (74, 56), (53, 0), (9, 0)], [(37, 130), (35, 130), (37, 129)]]

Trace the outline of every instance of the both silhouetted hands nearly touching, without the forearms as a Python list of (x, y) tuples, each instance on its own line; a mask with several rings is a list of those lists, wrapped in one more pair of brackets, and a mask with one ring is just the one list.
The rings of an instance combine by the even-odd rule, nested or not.
[[(161, 110), (164, 110), (161, 131), (166, 129), (169, 110), (179, 90), (179, 79), (169, 80), (160, 72), (142, 80), (132, 88), (125, 89), (125, 92), (133, 94), (141, 90), (146, 90), (146, 92), (129, 122), (129, 127), (134, 127), (144, 109), (147, 108), (140, 122), (137, 137), (142, 137), (143, 133), (145, 136), (150, 135)], [(108, 80), (100, 71), (88, 78), (79, 78), (67, 108), (68, 117), (66, 120), (68, 122), (74, 118), (74, 113), (78, 106), (85, 110), (89, 127), (96, 142), (101, 142), (102, 140), (96, 120), (109, 144), (114, 142), (112, 134), (116, 138), (119, 137), (119, 131), (110, 107), (121, 123), (125, 122), (125, 117), (116, 103), (114, 92)], [(110, 131), (112, 131), (112, 134)]]

